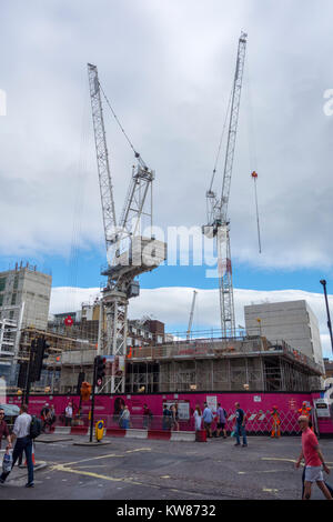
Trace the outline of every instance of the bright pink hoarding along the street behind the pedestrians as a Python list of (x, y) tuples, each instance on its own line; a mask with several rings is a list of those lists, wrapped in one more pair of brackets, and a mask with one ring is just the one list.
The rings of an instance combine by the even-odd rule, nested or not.
[[(107, 425), (112, 425), (112, 419), (119, 412), (120, 405), (127, 404), (130, 409), (132, 419), (137, 419), (138, 423), (133, 428), (141, 426), (139, 419), (142, 419), (144, 404), (151, 410), (155, 425), (157, 420), (162, 419), (163, 404), (176, 402), (179, 404), (180, 414), (180, 429), (193, 430), (193, 412), (195, 405), (199, 404), (203, 409), (204, 402), (214, 411), (218, 403), (226, 410), (228, 415), (232, 415), (235, 402), (239, 402), (241, 408), (248, 413), (248, 430), (253, 432), (268, 432), (271, 429), (270, 411), (273, 406), (278, 406), (282, 424), (285, 432), (295, 432), (297, 430), (299, 409), (302, 402), (307, 402), (313, 406), (313, 400), (320, 398), (320, 393), (253, 393), (253, 392), (229, 392), (229, 393), (157, 393), (157, 394), (138, 394), (138, 395), (95, 395), (94, 419), (103, 419)], [(8, 402), (20, 405), (21, 399), (17, 396), (9, 396)], [(68, 403), (73, 404), (74, 413), (78, 412), (80, 405), (80, 398), (78, 395), (30, 395), (29, 411), (33, 414), (40, 414), (41, 409), (46, 403), (53, 404), (58, 422), (63, 415), (64, 409)], [(90, 401), (82, 402), (81, 415), (88, 423), (88, 414), (90, 411)], [(251, 419), (251, 420), (250, 420)], [(57, 423), (58, 423), (57, 422)], [(59, 422), (60, 423), (60, 422)], [(282, 425), (282, 431), (283, 431)], [(231, 421), (229, 424), (231, 429)], [(321, 434), (333, 435), (333, 422), (331, 419), (319, 419), (319, 429)]]

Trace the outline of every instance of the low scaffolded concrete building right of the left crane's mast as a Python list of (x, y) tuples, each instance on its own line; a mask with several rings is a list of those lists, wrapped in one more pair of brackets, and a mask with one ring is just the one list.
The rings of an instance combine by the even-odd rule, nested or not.
[(284, 341), (196, 339), (133, 350), (125, 392), (311, 391), (322, 369)]

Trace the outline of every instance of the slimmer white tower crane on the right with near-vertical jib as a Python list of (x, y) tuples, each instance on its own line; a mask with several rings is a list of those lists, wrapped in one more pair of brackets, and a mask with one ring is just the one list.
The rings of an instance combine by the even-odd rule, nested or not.
[(215, 169), (213, 170), (210, 189), (206, 191), (205, 194), (208, 207), (208, 224), (203, 227), (203, 233), (209, 238), (216, 238), (220, 319), (222, 337), (235, 335), (234, 301), (230, 252), (230, 221), (228, 218), (228, 204), (238, 131), (246, 38), (248, 34), (242, 32), (239, 39), (236, 67), (231, 94), (229, 132), (224, 159), (224, 172), (221, 197), (219, 198), (216, 192), (213, 191)]

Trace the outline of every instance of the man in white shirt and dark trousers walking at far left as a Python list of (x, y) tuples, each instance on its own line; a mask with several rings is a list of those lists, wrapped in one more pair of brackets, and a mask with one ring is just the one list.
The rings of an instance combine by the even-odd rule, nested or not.
[[(27, 465), (28, 465), (28, 482), (26, 488), (33, 488), (33, 462), (32, 462), (32, 439), (30, 435), (30, 424), (31, 415), (28, 413), (27, 404), (22, 404), (20, 408), (20, 414), (17, 418), (12, 434), (11, 434), (11, 444), (16, 440), (16, 445), (12, 452), (12, 468), (14, 466), (18, 458), (26, 453)], [(2, 473), (0, 476), (0, 483), (3, 484), (8, 478), (10, 471)]]

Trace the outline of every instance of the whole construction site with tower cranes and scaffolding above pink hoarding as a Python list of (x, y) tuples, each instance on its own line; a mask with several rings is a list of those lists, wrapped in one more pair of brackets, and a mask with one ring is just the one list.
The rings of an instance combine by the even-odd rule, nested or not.
[[(79, 311), (80, 317), (74, 317), (78, 311), (69, 311), (58, 314), (47, 324), (44, 311), (47, 310), (48, 315), (50, 278), (47, 278), (47, 287), (44, 287), (47, 295), (42, 295), (42, 299), (48, 301), (46, 310), (43, 313), (38, 312), (40, 321), (42, 319), (40, 323), (31, 318), (22, 322), (24, 317), (22, 307), (23, 301), (27, 305), (28, 294), (26, 298), (22, 294), (21, 300), (17, 295), (14, 299), (6, 298), (7, 301), (2, 299), (2, 293), (3, 295), (9, 292), (11, 295), (13, 292), (18, 293), (16, 289), (23, 270), (26, 278), (28, 275), (30, 278), (31, 272), (34, 272), (34, 278), (40, 278), (36, 268), (17, 265), (16, 273), (4, 274), (2, 280), (0, 278), (1, 362), (4, 364), (9, 361), (11, 367), (8, 378), (11, 378), (12, 392), (20, 389), (24, 393), (24, 390), (29, 388), (32, 393), (80, 394), (83, 381), (93, 387), (95, 394), (108, 393), (110, 398), (117, 394), (147, 395), (178, 392), (311, 393), (313, 390), (321, 389), (324, 367), (321, 348), (314, 347), (316, 341), (313, 341), (316, 340), (317, 323), (315, 324), (314, 320), (310, 323), (307, 312), (304, 312), (306, 317), (302, 319), (302, 329), (310, 330), (310, 334), (307, 332), (310, 342), (306, 347), (300, 337), (295, 342), (289, 340), (283, 333), (283, 328), (280, 327), (280, 334), (275, 332), (272, 338), (265, 333), (268, 325), (260, 319), (256, 320), (256, 325), (249, 324), (242, 333), (235, 328), (228, 203), (246, 38), (245, 33), (241, 33), (238, 42), (229, 107), (224, 170), (220, 180), (222, 191), (219, 194), (214, 190), (214, 182), (218, 178), (216, 158), (206, 191), (206, 222), (202, 227), (203, 234), (214, 242), (218, 252), (219, 302), (216, 302), (216, 308), (220, 307), (218, 332), (210, 335), (192, 330), (198, 293), (195, 291), (188, 330), (182, 335), (165, 332), (162, 322), (152, 321), (149, 318), (142, 321), (129, 321), (130, 300), (135, 299), (140, 293), (138, 278), (157, 270), (165, 261), (168, 245), (163, 241), (158, 241), (153, 233), (142, 235), (143, 230), (145, 232), (153, 230), (152, 184), (155, 173), (133, 147), (104, 93), (97, 67), (89, 63), (88, 79), (108, 259), (108, 265), (102, 270), (102, 275), (107, 282), (100, 299), (93, 304), (82, 304)], [(110, 109), (137, 161), (119, 220), (115, 217), (103, 102)], [(252, 172), (251, 175), (255, 187), (258, 174)], [(255, 202), (258, 217), (256, 192)], [(258, 238), (261, 249), (259, 219)], [(11, 284), (14, 285), (13, 289)], [(41, 294), (31, 289), (29, 291), (30, 294)], [(18, 309), (16, 323), (10, 322), (13, 320), (13, 313), (10, 318), (6, 315), (6, 310), (10, 310), (11, 307)], [(31, 308), (30, 304), (29, 310)], [(8, 341), (10, 335), (14, 335), (12, 342)], [(31, 351), (34, 341), (40, 338), (44, 341), (44, 349), (40, 357), (40, 379), (33, 381), (31, 379)], [(4, 339), (7, 339), (7, 344)], [(95, 364), (99, 357), (107, 358), (104, 375), (100, 382), (98, 382)], [(12, 372), (14, 365), (17, 367), (16, 375)], [(17, 384), (12, 382), (14, 377)]]

